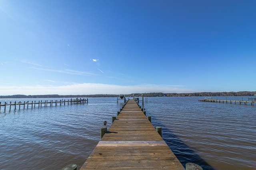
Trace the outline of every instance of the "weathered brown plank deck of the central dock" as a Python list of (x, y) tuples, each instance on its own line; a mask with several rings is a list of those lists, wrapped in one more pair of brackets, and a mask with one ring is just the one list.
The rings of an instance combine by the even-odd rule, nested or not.
[(134, 100), (128, 100), (80, 170), (184, 170)]

